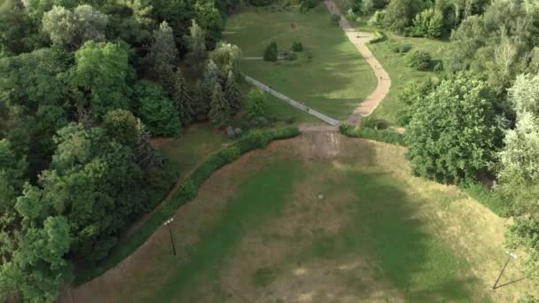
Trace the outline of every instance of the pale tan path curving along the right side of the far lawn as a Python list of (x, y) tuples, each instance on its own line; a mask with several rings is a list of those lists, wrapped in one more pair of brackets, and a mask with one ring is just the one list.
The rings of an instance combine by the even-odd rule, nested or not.
[(348, 118), (348, 123), (355, 125), (359, 122), (361, 117), (370, 115), (374, 109), (379, 105), (379, 103), (386, 97), (389, 92), (389, 87), (391, 87), (391, 78), (387, 74), (384, 67), (379, 63), (379, 61), (374, 58), (371, 53), (371, 50), (365, 45), (373, 38), (371, 33), (357, 32), (354, 27), (350, 25), (348, 20), (340, 12), (339, 6), (335, 4), (332, 0), (325, 0), (325, 6), (327, 7), (332, 14), (340, 15), (340, 27), (345, 31), (348, 36), (348, 39), (351, 43), (354, 43), (355, 49), (361, 53), (363, 58), (367, 61), (369, 66), (371, 66), (372, 71), (376, 75), (378, 81), (378, 86), (374, 91), (363, 100), (363, 102), (357, 106), (354, 110), (354, 113)]

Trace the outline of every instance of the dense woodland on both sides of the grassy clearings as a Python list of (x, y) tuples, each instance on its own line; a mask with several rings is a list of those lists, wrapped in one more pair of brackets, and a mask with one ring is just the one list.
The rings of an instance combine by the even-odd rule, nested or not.
[[(398, 96), (411, 170), (512, 216), (506, 246), (539, 285), (539, 3), (336, 2), (380, 42), (383, 31), (448, 42), (441, 60), (392, 42), (435, 74)], [(0, 0), (0, 301), (54, 301), (157, 206), (178, 173), (153, 137), (205, 121), (223, 130), (242, 107), (262, 115), (261, 96), (242, 97), (241, 50), (223, 30), (238, 7), (277, 3), (296, 4)]]

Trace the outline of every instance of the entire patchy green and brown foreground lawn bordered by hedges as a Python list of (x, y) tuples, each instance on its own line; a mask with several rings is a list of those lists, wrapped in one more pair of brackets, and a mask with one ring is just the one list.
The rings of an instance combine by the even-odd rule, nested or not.
[[(340, 135), (271, 144), (217, 171), (172, 226), (74, 291), (85, 302), (512, 302), (506, 221), (410, 175), (405, 149)], [(322, 195), (322, 196), (319, 196)], [(129, 277), (129, 278), (126, 278)]]

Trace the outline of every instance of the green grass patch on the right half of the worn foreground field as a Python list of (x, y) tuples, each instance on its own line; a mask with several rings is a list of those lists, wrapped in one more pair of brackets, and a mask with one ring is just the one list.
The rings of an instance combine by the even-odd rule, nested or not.
[(410, 301), (481, 298), (473, 293), (477, 281), (461, 275), (465, 260), (428, 230), (404, 183), (390, 175), (360, 171), (347, 172), (341, 180), (334, 186), (355, 194), (346, 209), (353, 223), (338, 235), (317, 239), (314, 256), (339, 259), (366, 253)]

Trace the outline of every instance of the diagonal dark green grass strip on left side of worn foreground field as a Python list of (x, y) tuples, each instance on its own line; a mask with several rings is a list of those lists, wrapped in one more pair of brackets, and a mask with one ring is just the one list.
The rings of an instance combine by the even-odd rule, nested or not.
[[(219, 222), (200, 237), (190, 259), (155, 293), (154, 301), (178, 298), (190, 285), (215, 276), (247, 230), (260, 228), (279, 214), (300, 176), (301, 164), (296, 161), (280, 162), (250, 175), (230, 198)], [(262, 274), (259, 276), (265, 276)], [(266, 278), (262, 280), (260, 283), (265, 283)]]

